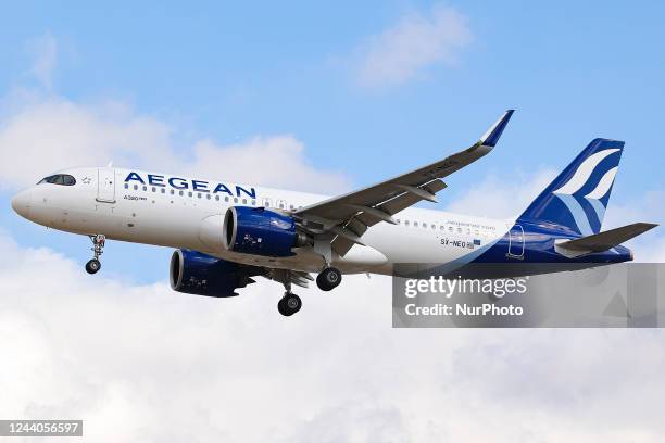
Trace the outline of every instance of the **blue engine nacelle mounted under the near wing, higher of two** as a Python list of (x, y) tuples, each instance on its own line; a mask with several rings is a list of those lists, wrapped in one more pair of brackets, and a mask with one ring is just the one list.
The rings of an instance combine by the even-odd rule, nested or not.
[(293, 217), (264, 207), (229, 207), (222, 231), (224, 248), (243, 254), (286, 257), (294, 255), (292, 248), (309, 243)]

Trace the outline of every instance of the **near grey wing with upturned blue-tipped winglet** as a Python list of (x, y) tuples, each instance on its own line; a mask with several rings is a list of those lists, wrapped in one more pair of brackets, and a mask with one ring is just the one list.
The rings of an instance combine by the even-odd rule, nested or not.
[(302, 218), (304, 226), (310, 226), (319, 236), (329, 233), (332, 250), (344, 255), (354, 243), (363, 244), (361, 237), (371, 226), (380, 221), (394, 224), (394, 214), (422, 200), (436, 202), (435, 194), (447, 187), (441, 178), (490, 152), (513, 112), (506, 111), (464, 151), (368, 188), (305, 206), (293, 215)]

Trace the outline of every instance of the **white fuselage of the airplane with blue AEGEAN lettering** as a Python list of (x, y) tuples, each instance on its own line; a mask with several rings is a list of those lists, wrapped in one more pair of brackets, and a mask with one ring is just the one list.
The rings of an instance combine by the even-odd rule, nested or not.
[[(26, 189), (15, 199), (16, 211), (35, 223), (68, 232), (192, 249), (271, 268), (317, 273), (323, 266), (323, 258), (310, 249), (278, 258), (227, 251), (222, 244), (222, 224), (229, 206), (288, 212), (326, 200), (326, 195), (136, 169), (85, 167), (62, 173), (74, 176), (76, 183)], [(512, 226), (512, 220), (415, 207), (394, 218), (397, 225), (371, 227), (363, 235), (366, 246), (355, 244), (343, 257), (334, 256), (332, 264), (342, 273), (378, 274), (390, 274), (394, 263), (444, 264), (495, 242)]]

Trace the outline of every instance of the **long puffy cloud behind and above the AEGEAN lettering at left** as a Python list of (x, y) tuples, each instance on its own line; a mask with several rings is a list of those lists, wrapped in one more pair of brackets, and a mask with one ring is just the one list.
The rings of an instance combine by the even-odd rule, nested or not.
[(117, 166), (311, 192), (334, 193), (350, 187), (343, 173), (314, 168), (304, 145), (290, 135), (258, 136), (230, 145), (205, 139), (178, 147), (172, 137), (174, 128), (122, 102), (84, 105), (37, 96), (8, 107), (0, 121), (0, 187), (5, 189), (28, 186), (61, 168), (110, 161)]

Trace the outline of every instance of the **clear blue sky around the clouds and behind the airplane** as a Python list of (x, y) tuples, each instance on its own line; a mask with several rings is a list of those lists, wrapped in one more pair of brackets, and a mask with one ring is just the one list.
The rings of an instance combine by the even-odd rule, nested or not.
[[(386, 55), (387, 34), (440, 11), (453, 11), (463, 28), (444, 37), (460, 40), (450, 53), (425, 56), (398, 80), (359, 78), (368, 54)], [(227, 145), (292, 135), (314, 168), (361, 186), (466, 148), (515, 107), (498, 149), (451, 177), (443, 203), (489, 175), (519, 182), (560, 169), (592, 138), (607, 137), (627, 142), (611, 205), (629, 205), (663, 190), (664, 13), (658, 2), (25, 1), (0, 17), (0, 125), (15, 116), (16, 91), (81, 106), (117, 101), (165, 125), (181, 155), (202, 139)], [(3, 202), (12, 191), (4, 188)], [(87, 256), (86, 239), (47, 236), (11, 212), (0, 223), (22, 244)], [(145, 263), (168, 251), (113, 249), (123, 258), (108, 249), (108, 271), (164, 278), (165, 265), (137, 266), (126, 254), (145, 254)]]

